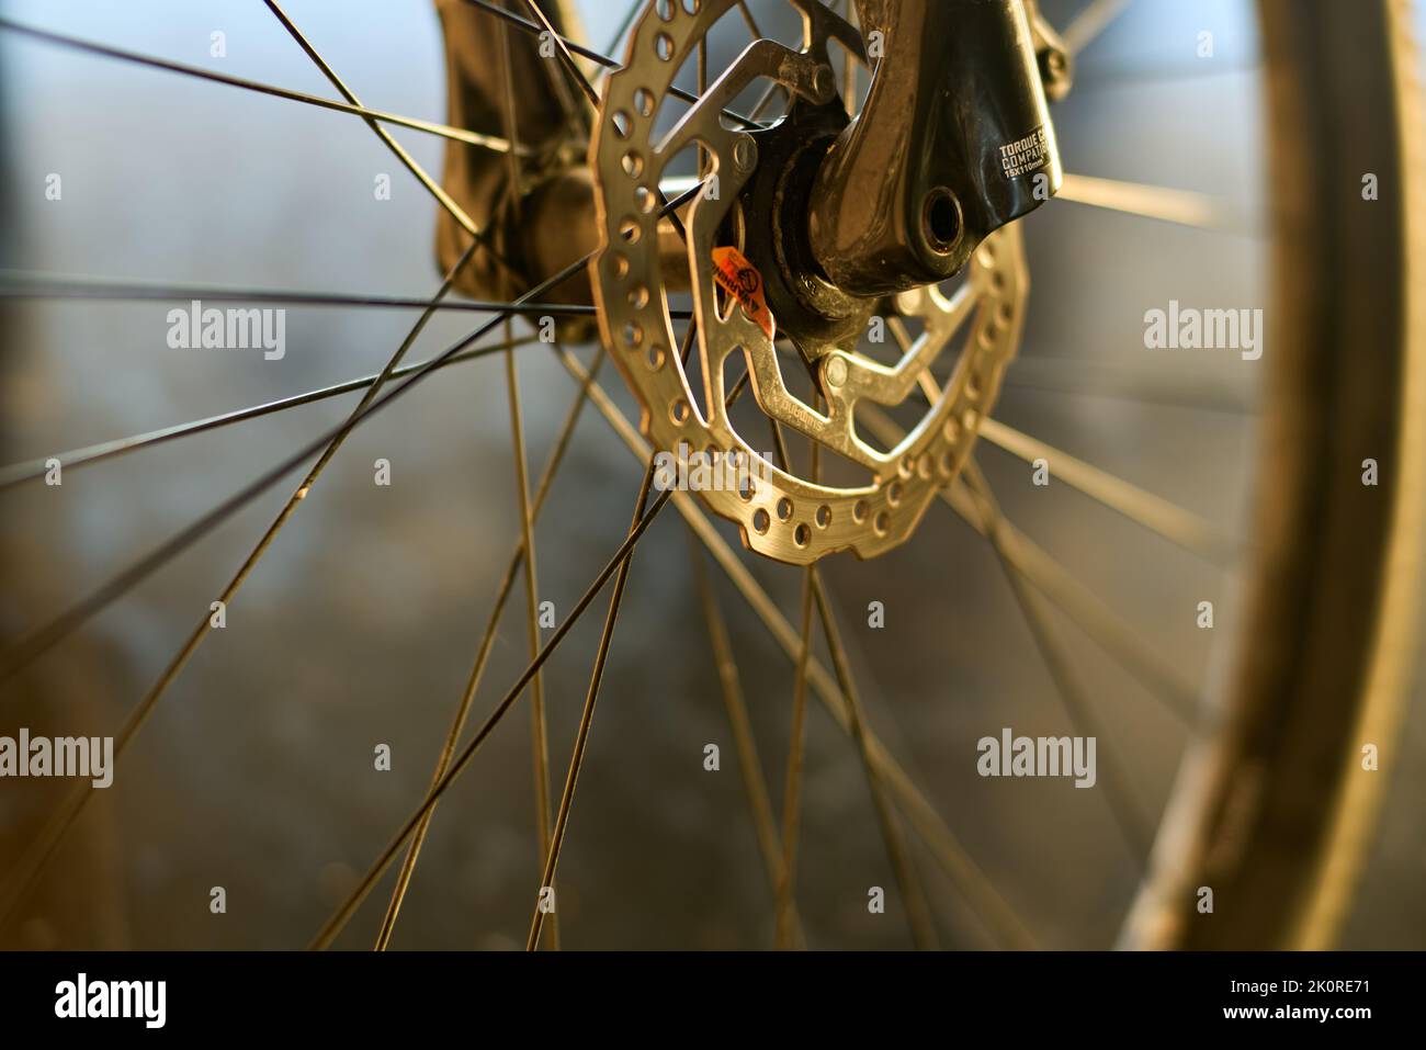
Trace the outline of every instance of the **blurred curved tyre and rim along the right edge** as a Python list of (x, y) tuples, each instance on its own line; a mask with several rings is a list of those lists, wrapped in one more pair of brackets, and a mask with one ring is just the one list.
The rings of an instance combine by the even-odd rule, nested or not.
[[(1131, 943), (1328, 947), (1370, 842), (1417, 645), (1423, 116), (1406, 4), (1262, 4), (1275, 314), (1248, 636), (1181, 775)], [(1379, 201), (1380, 165), (1399, 187)], [(1360, 168), (1360, 170), (1358, 170)], [(1352, 351), (1345, 352), (1345, 347)], [(1368, 461), (1399, 465), (1363, 486)], [(1356, 609), (1362, 615), (1342, 616)], [(1198, 886), (1228, 900), (1198, 916)], [(1224, 892), (1225, 890), (1225, 892)]]

